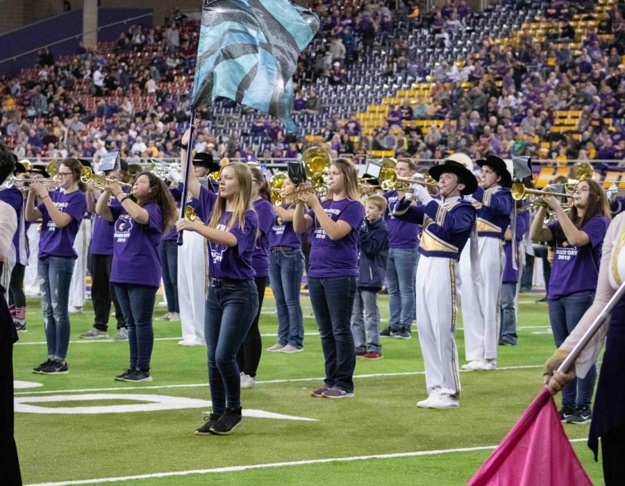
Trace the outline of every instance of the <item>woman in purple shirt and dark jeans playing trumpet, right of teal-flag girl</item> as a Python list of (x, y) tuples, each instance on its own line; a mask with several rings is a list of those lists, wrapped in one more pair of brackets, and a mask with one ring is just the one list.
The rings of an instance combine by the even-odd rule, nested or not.
[[(310, 235), (308, 292), (324, 350), (324, 386), (312, 396), (342, 399), (353, 396), (356, 351), (351, 334), (351, 312), (358, 276), (358, 234), (365, 217), (358, 194), (358, 173), (343, 158), (333, 160), (326, 199), (312, 192), (299, 195), (293, 228)], [(304, 205), (310, 210), (304, 212)]]

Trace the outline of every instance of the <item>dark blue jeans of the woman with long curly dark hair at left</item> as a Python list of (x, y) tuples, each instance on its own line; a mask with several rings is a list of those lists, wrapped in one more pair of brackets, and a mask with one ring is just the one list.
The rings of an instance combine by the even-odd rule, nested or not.
[(154, 347), (152, 312), (157, 287), (136, 283), (115, 283), (119, 306), (124, 312), (130, 345), (130, 367), (148, 371)]

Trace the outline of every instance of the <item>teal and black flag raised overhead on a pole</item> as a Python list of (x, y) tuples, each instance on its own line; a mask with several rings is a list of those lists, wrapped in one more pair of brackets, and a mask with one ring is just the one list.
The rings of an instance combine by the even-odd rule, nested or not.
[(292, 76), (318, 28), (317, 15), (289, 0), (204, 0), (192, 110), (226, 97), (299, 131)]

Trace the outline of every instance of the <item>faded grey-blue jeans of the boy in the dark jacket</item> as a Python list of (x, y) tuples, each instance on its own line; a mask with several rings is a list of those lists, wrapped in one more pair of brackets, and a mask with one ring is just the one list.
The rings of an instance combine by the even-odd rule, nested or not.
[[(366, 335), (365, 330), (367, 331)], [(353, 335), (353, 345), (358, 353), (371, 351), (379, 353), (382, 351), (378, 292), (375, 290), (358, 289), (356, 292), (351, 314), (351, 334)]]

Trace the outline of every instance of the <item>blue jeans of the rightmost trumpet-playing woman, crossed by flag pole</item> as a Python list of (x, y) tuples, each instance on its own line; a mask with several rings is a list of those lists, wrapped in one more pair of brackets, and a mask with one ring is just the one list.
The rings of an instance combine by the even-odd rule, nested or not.
[[(551, 321), (556, 347), (559, 348), (560, 344), (572, 333), (593, 300), (594, 291), (583, 290), (549, 301), (549, 321)], [(585, 378), (575, 378), (569, 381), (562, 388), (562, 405), (569, 408), (575, 408), (576, 405), (590, 407), (596, 378), (597, 366), (593, 364)]]

